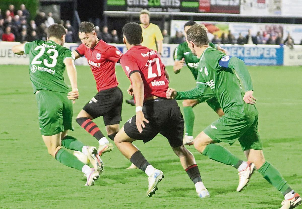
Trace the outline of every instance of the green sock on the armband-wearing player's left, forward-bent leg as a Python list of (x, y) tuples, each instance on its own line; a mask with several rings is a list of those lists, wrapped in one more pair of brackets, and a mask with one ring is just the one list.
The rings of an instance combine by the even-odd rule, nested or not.
[(221, 147), (218, 144), (207, 145), (204, 151), (202, 152), (202, 154), (206, 155), (212, 160), (216, 160), (226, 165), (231, 165), (235, 168), (238, 168), (240, 164), (243, 162), (238, 157), (231, 154), (228, 150), (226, 150), (224, 147)]

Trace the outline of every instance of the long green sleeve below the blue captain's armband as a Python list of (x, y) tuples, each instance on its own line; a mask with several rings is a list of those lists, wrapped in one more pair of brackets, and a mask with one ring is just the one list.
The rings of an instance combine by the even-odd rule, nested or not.
[(237, 57), (231, 57), (228, 68), (233, 68), (235, 70), (245, 91), (254, 90), (252, 78), (249, 74), (248, 69), (246, 68), (245, 63), (241, 59)]

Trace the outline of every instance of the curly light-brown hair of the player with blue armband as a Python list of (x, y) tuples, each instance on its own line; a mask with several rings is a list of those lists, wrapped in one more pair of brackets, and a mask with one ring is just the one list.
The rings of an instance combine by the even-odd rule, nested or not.
[(193, 42), (197, 47), (209, 44), (207, 28), (203, 24), (195, 24), (187, 32), (187, 40)]

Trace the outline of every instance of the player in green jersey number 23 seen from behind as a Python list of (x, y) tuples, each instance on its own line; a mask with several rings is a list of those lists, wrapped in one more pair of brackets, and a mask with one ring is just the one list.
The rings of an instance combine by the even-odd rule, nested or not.
[[(13, 46), (16, 54), (28, 54), (29, 74), (36, 94), (39, 125), (48, 153), (66, 166), (76, 168), (87, 177), (86, 186), (91, 186), (103, 171), (103, 162), (95, 147), (84, 146), (76, 138), (67, 135), (72, 127), (72, 101), (79, 97), (76, 82), (75, 55), (65, 43), (65, 28), (53, 24), (47, 28), (47, 41), (36, 40)], [(63, 73), (67, 69), (72, 91), (64, 82)], [(94, 168), (79, 161), (76, 156), (61, 146), (85, 154)]]

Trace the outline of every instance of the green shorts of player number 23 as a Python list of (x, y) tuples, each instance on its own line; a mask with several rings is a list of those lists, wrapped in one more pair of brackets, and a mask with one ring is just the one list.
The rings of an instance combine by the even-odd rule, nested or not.
[(51, 136), (72, 127), (72, 101), (67, 93), (40, 90), (36, 93), (41, 134)]

